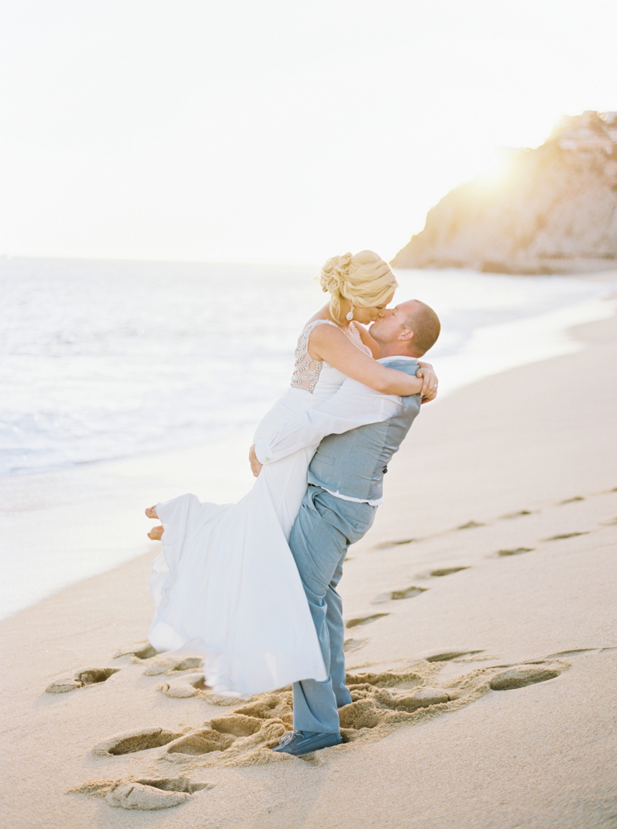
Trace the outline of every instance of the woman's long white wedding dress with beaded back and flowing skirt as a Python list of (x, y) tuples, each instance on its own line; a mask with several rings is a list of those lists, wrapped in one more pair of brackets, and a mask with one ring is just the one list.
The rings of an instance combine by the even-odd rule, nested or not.
[[(261, 420), (255, 442), (321, 405), (345, 380), (307, 352), (319, 324), (334, 325), (315, 320), (304, 328), (292, 387)], [(366, 348), (359, 335), (357, 345)], [(203, 653), (206, 685), (216, 693), (244, 696), (328, 678), (288, 545), (316, 448), (266, 464), (236, 504), (190, 494), (157, 504), (163, 552), (150, 577), (156, 611), (148, 638), (158, 651)]]

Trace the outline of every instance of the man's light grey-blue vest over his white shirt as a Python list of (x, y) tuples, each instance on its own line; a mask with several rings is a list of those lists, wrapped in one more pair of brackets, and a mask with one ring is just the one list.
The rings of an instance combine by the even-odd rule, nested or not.
[[(418, 363), (391, 360), (388, 368), (415, 376)], [(420, 395), (401, 397), (401, 400), (403, 410), (390, 419), (358, 426), (343, 434), (328, 434), (310, 463), (309, 483), (362, 501), (378, 501), (388, 462), (420, 411)]]

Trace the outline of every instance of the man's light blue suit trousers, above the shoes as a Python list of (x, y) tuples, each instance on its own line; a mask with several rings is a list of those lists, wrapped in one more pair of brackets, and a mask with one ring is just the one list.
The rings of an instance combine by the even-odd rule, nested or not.
[(294, 730), (336, 733), (338, 708), (352, 701), (345, 685), (343, 602), (336, 591), (347, 548), (369, 530), (377, 507), (343, 501), (309, 485), (289, 538), (323, 662), (324, 682), (294, 682)]

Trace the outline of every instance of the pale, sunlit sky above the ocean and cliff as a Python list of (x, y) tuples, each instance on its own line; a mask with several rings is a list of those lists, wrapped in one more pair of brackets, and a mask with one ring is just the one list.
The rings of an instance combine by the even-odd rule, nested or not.
[(0, 0), (0, 255), (390, 259), (617, 109), (615, 0)]

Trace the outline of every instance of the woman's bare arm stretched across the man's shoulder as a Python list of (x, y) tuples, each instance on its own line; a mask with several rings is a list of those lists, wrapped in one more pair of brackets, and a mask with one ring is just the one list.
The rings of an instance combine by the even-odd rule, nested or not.
[(309, 338), (309, 356), (313, 360), (325, 360), (347, 377), (383, 395), (405, 397), (418, 395), (422, 390), (421, 377), (382, 366), (333, 325), (318, 325), (313, 329)]

